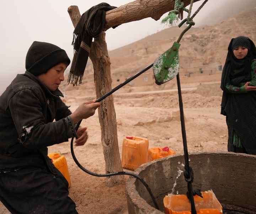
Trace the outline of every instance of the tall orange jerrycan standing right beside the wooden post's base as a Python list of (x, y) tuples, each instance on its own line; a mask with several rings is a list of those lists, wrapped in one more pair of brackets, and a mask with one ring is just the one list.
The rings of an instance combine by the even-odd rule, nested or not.
[(148, 163), (148, 146), (147, 138), (126, 136), (122, 148), (123, 168), (135, 170), (140, 165)]

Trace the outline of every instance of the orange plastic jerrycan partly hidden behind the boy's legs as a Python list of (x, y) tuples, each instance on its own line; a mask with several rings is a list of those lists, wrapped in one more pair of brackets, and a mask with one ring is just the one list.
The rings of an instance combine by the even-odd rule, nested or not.
[(69, 171), (68, 171), (68, 164), (66, 162), (66, 158), (64, 155), (60, 155), (60, 153), (50, 153), (48, 157), (52, 159), (54, 166), (62, 173), (62, 175), (66, 178), (69, 183), (68, 188), (71, 185)]

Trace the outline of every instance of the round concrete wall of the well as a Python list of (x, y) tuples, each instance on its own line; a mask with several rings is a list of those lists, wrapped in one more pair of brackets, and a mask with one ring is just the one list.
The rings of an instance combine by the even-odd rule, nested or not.
[[(256, 214), (256, 156), (231, 152), (191, 153), (190, 166), (194, 173), (193, 190), (212, 190), (223, 207), (223, 213)], [(178, 168), (184, 170), (183, 155), (171, 155), (141, 165), (135, 173), (149, 185), (159, 210), (155, 209), (143, 183), (134, 177), (127, 181), (129, 214), (160, 214), (163, 199), (172, 192), (186, 194), (187, 182), (183, 173), (178, 179)]]

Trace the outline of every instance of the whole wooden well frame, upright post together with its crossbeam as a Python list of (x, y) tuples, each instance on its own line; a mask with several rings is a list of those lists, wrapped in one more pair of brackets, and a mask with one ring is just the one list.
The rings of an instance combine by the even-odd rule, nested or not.
[[(200, 0), (194, 0), (194, 2)], [(183, 0), (184, 6), (191, 0)], [(166, 12), (173, 10), (175, 0), (135, 0), (126, 5), (106, 12), (104, 31), (119, 24), (142, 20), (151, 17), (154, 20)], [(114, 6), (114, 5), (112, 5)], [(70, 6), (68, 13), (74, 27), (81, 15), (77, 6)], [(150, 26), (148, 26), (150, 28)], [(110, 57), (108, 56), (105, 32), (94, 39), (89, 55), (94, 66), (94, 82), (97, 98), (111, 90)], [(122, 56), (121, 56), (122, 57)], [(116, 112), (112, 95), (101, 101), (98, 108), (101, 125), (101, 143), (106, 160), (106, 173), (123, 171), (118, 149)], [(107, 185), (114, 186), (124, 183), (123, 175), (107, 177)]]

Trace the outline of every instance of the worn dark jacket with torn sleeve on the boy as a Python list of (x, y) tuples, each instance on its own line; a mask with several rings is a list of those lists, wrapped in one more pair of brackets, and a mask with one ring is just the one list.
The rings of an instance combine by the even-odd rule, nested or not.
[[(18, 74), (0, 96), (0, 171), (32, 166), (54, 170), (48, 148), (73, 137), (68, 109), (30, 72)], [(55, 119), (55, 122), (53, 122)], [(70, 119), (70, 117), (69, 117)]]

